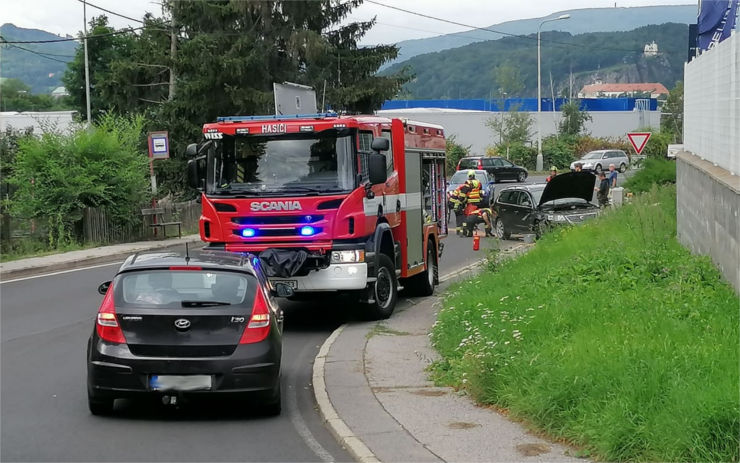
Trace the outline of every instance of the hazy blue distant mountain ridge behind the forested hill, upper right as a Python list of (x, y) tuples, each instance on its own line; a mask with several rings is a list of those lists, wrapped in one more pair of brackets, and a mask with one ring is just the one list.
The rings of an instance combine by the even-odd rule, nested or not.
[[(570, 14), (570, 19), (547, 23), (542, 26), (542, 31), (557, 30), (575, 35), (586, 32), (629, 31), (651, 24), (691, 24), (696, 22), (697, 6), (664, 5), (565, 10), (542, 18), (506, 21), (488, 26), (488, 29), (495, 29), (508, 34), (529, 35), (537, 33), (537, 26), (544, 19), (557, 18), (562, 14)], [(395, 63), (401, 63), (417, 55), (463, 47), (471, 43), (496, 40), (502, 37), (504, 35), (476, 29), (426, 39), (404, 40), (397, 44), (400, 49), (398, 58), (386, 63), (381, 69), (390, 67)]]

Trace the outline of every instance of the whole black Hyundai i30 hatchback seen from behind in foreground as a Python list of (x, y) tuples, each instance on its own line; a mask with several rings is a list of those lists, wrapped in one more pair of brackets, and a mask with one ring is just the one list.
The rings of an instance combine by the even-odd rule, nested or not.
[[(283, 313), (259, 260), (201, 252), (136, 254), (105, 294), (87, 344), (90, 412), (118, 398), (250, 397), (280, 413)], [(173, 400), (174, 398), (174, 400)]]

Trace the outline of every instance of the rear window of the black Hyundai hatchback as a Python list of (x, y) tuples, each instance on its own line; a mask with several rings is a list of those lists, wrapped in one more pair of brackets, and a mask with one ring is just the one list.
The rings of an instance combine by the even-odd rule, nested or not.
[(203, 308), (244, 303), (257, 280), (235, 272), (147, 270), (124, 273), (115, 285), (117, 305)]

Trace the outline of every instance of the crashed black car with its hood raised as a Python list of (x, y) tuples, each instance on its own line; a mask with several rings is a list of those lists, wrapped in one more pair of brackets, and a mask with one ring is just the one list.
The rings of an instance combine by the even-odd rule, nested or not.
[(508, 187), (493, 205), (499, 238), (534, 233), (537, 238), (555, 225), (577, 224), (594, 218), (599, 207), (591, 202), (596, 178), (590, 172), (567, 172), (547, 184)]

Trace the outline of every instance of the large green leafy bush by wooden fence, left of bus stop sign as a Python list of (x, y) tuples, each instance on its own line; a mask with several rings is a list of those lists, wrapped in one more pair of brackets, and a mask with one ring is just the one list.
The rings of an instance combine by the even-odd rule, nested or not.
[(140, 220), (149, 198), (148, 158), (141, 146), (143, 119), (103, 116), (89, 130), (47, 132), (19, 142), (13, 174), (14, 215), (48, 221), (49, 245), (75, 241), (86, 207), (106, 207), (120, 224)]

